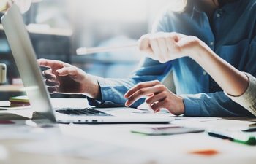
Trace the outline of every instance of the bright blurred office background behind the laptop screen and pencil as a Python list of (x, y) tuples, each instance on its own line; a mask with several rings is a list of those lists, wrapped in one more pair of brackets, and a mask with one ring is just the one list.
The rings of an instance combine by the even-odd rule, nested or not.
[[(167, 0), (42, 0), (23, 15), (37, 58), (62, 60), (100, 77), (127, 77), (141, 55), (134, 49), (78, 56), (79, 47), (136, 43)], [(0, 31), (0, 63), (7, 64), (7, 84), (21, 83), (4, 31)], [(0, 100), (17, 95), (1, 91)]]

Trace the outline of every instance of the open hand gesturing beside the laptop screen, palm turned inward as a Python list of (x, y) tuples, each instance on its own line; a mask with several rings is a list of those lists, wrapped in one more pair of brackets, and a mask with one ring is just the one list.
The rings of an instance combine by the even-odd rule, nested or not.
[(83, 70), (58, 60), (39, 59), (37, 62), (39, 66), (49, 68), (42, 72), (42, 76), (50, 93), (80, 93), (91, 98), (99, 95), (97, 79)]

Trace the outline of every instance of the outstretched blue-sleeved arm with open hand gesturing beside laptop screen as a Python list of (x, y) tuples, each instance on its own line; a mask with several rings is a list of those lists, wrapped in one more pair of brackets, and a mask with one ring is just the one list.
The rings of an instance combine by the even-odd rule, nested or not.
[[(93, 106), (124, 106), (124, 93), (139, 82), (162, 80), (170, 71), (170, 63), (160, 64), (146, 58), (140, 69), (127, 79), (105, 79), (86, 74), (81, 69), (58, 60), (37, 60), (39, 66), (48, 67), (43, 71), (45, 84), (50, 93), (83, 94)], [(133, 104), (137, 107), (143, 100)]]

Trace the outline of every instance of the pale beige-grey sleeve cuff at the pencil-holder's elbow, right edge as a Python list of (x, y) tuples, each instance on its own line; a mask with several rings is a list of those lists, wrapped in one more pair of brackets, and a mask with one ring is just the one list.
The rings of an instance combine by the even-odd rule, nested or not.
[(249, 79), (249, 86), (247, 87), (244, 94), (239, 96), (233, 96), (225, 93), (231, 100), (235, 101), (237, 104), (240, 104), (249, 112), (256, 116), (256, 78), (251, 74), (245, 73)]

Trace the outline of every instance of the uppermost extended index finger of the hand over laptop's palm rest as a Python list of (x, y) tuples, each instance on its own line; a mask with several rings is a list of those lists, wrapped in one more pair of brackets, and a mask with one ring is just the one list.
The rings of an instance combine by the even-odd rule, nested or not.
[(135, 103), (135, 101), (138, 101), (140, 98), (146, 97), (146, 95), (154, 93), (157, 94), (159, 92), (162, 92), (160, 90), (161, 88), (159, 86), (154, 86), (154, 87), (146, 87), (138, 90), (135, 92), (133, 95), (131, 95), (128, 99), (127, 102), (125, 103), (126, 106), (130, 106)]

